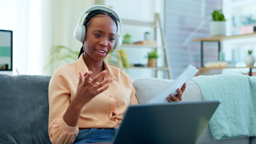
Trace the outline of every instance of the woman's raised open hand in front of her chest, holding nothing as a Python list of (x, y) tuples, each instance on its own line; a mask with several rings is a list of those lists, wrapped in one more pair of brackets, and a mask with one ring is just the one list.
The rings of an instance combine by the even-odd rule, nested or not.
[(77, 87), (77, 93), (75, 94), (75, 100), (77, 101), (77, 106), (82, 108), (86, 103), (88, 103), (96, 95), (106, 91), (108, 89), (109, 83), (112, 79), (109, 77), (102, 82), (99, 82), (104, 75), (107, 74), (107, 70), (101, 71), (100, 74), (90, 80), (92, 71), (87, 73), (85, 76), (79, 72), (79, 83)]

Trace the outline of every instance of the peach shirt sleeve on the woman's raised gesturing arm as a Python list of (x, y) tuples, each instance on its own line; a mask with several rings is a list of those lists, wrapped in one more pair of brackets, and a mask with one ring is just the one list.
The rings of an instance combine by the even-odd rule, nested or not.
[(49, 83), (49, 127), (50, 141), (54, 143), (73, 143), (78, 135), (78, 127), (69, 126), (63, 115), (70, 104), (70, 89), (67, 77), (60, 69)]

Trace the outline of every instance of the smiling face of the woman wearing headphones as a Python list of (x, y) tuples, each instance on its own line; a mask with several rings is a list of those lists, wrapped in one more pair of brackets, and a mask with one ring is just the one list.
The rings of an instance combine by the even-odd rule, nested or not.
[(86, 29), (85, 56), (103, 61), (114, 47), (116, 34), (117, 25), (109, 16), (93, 17)]

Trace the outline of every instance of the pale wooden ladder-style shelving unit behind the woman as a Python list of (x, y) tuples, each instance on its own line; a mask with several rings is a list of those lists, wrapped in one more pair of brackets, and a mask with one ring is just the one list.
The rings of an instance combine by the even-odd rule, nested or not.
[[(132, 25), (132, 26), (137, 26), (137, 27), (152, 27), (152, 28), (154, 28), (154, 40), (156, 41), (156, 44), (122, 44), (120, 49), (126, 48), (125, 49), (126, 51), (128, 51), (128, 50), (132, 51), (132, 50), (135, 50), (135, 49), (142, 49), (142, 48), (153, 49), (154, 51), (162, 50), (163, 51), (162, 53), (164, 53), (164, 54), (160, 55), (160, 57), (164, 58), (162, 60), (165, 61), (163, 67), (134, 67), (133, 65), (131, 65), (131, 67), (129, 67), (127, 69), (136, 69), (136, 70), (150, 69), (150, 70), (154, 70), (154, 77), (158, 77), (158, 71), (161, 70), (161, 71), (165, 71), (165, 73), (167, 72), (168, 79), (171, 79), (170, 67), (168, 65), (167, 58), (166, 58), (164, 34), (162, 32), (159, 14), (158, 13), (154, 14), (154, 22), (122, 19), (122, 23), (123, 23), (123, 25)], [(156, 33), (157, 32), (160, 32), (161, 39), (156, 38)], [(159, 46), (158, 43), (161, 43), (161, 46)], [(127, 56), (127, 57), (129, 59), (129, 56)], [(139, 73), (139, 71), (138, 71), (138, 73)]]

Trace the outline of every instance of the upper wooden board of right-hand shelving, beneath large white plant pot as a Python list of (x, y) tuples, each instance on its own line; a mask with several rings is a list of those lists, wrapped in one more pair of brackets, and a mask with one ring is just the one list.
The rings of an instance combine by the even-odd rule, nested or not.
[(222, 41), (222, 40), (228, 40), (228, 39), (241, 39), (241, 38), (253, 38), (253, 37), (256, 38), (256, 33), (200, 38), (200, 39), (193, 39), (193, 41)]

